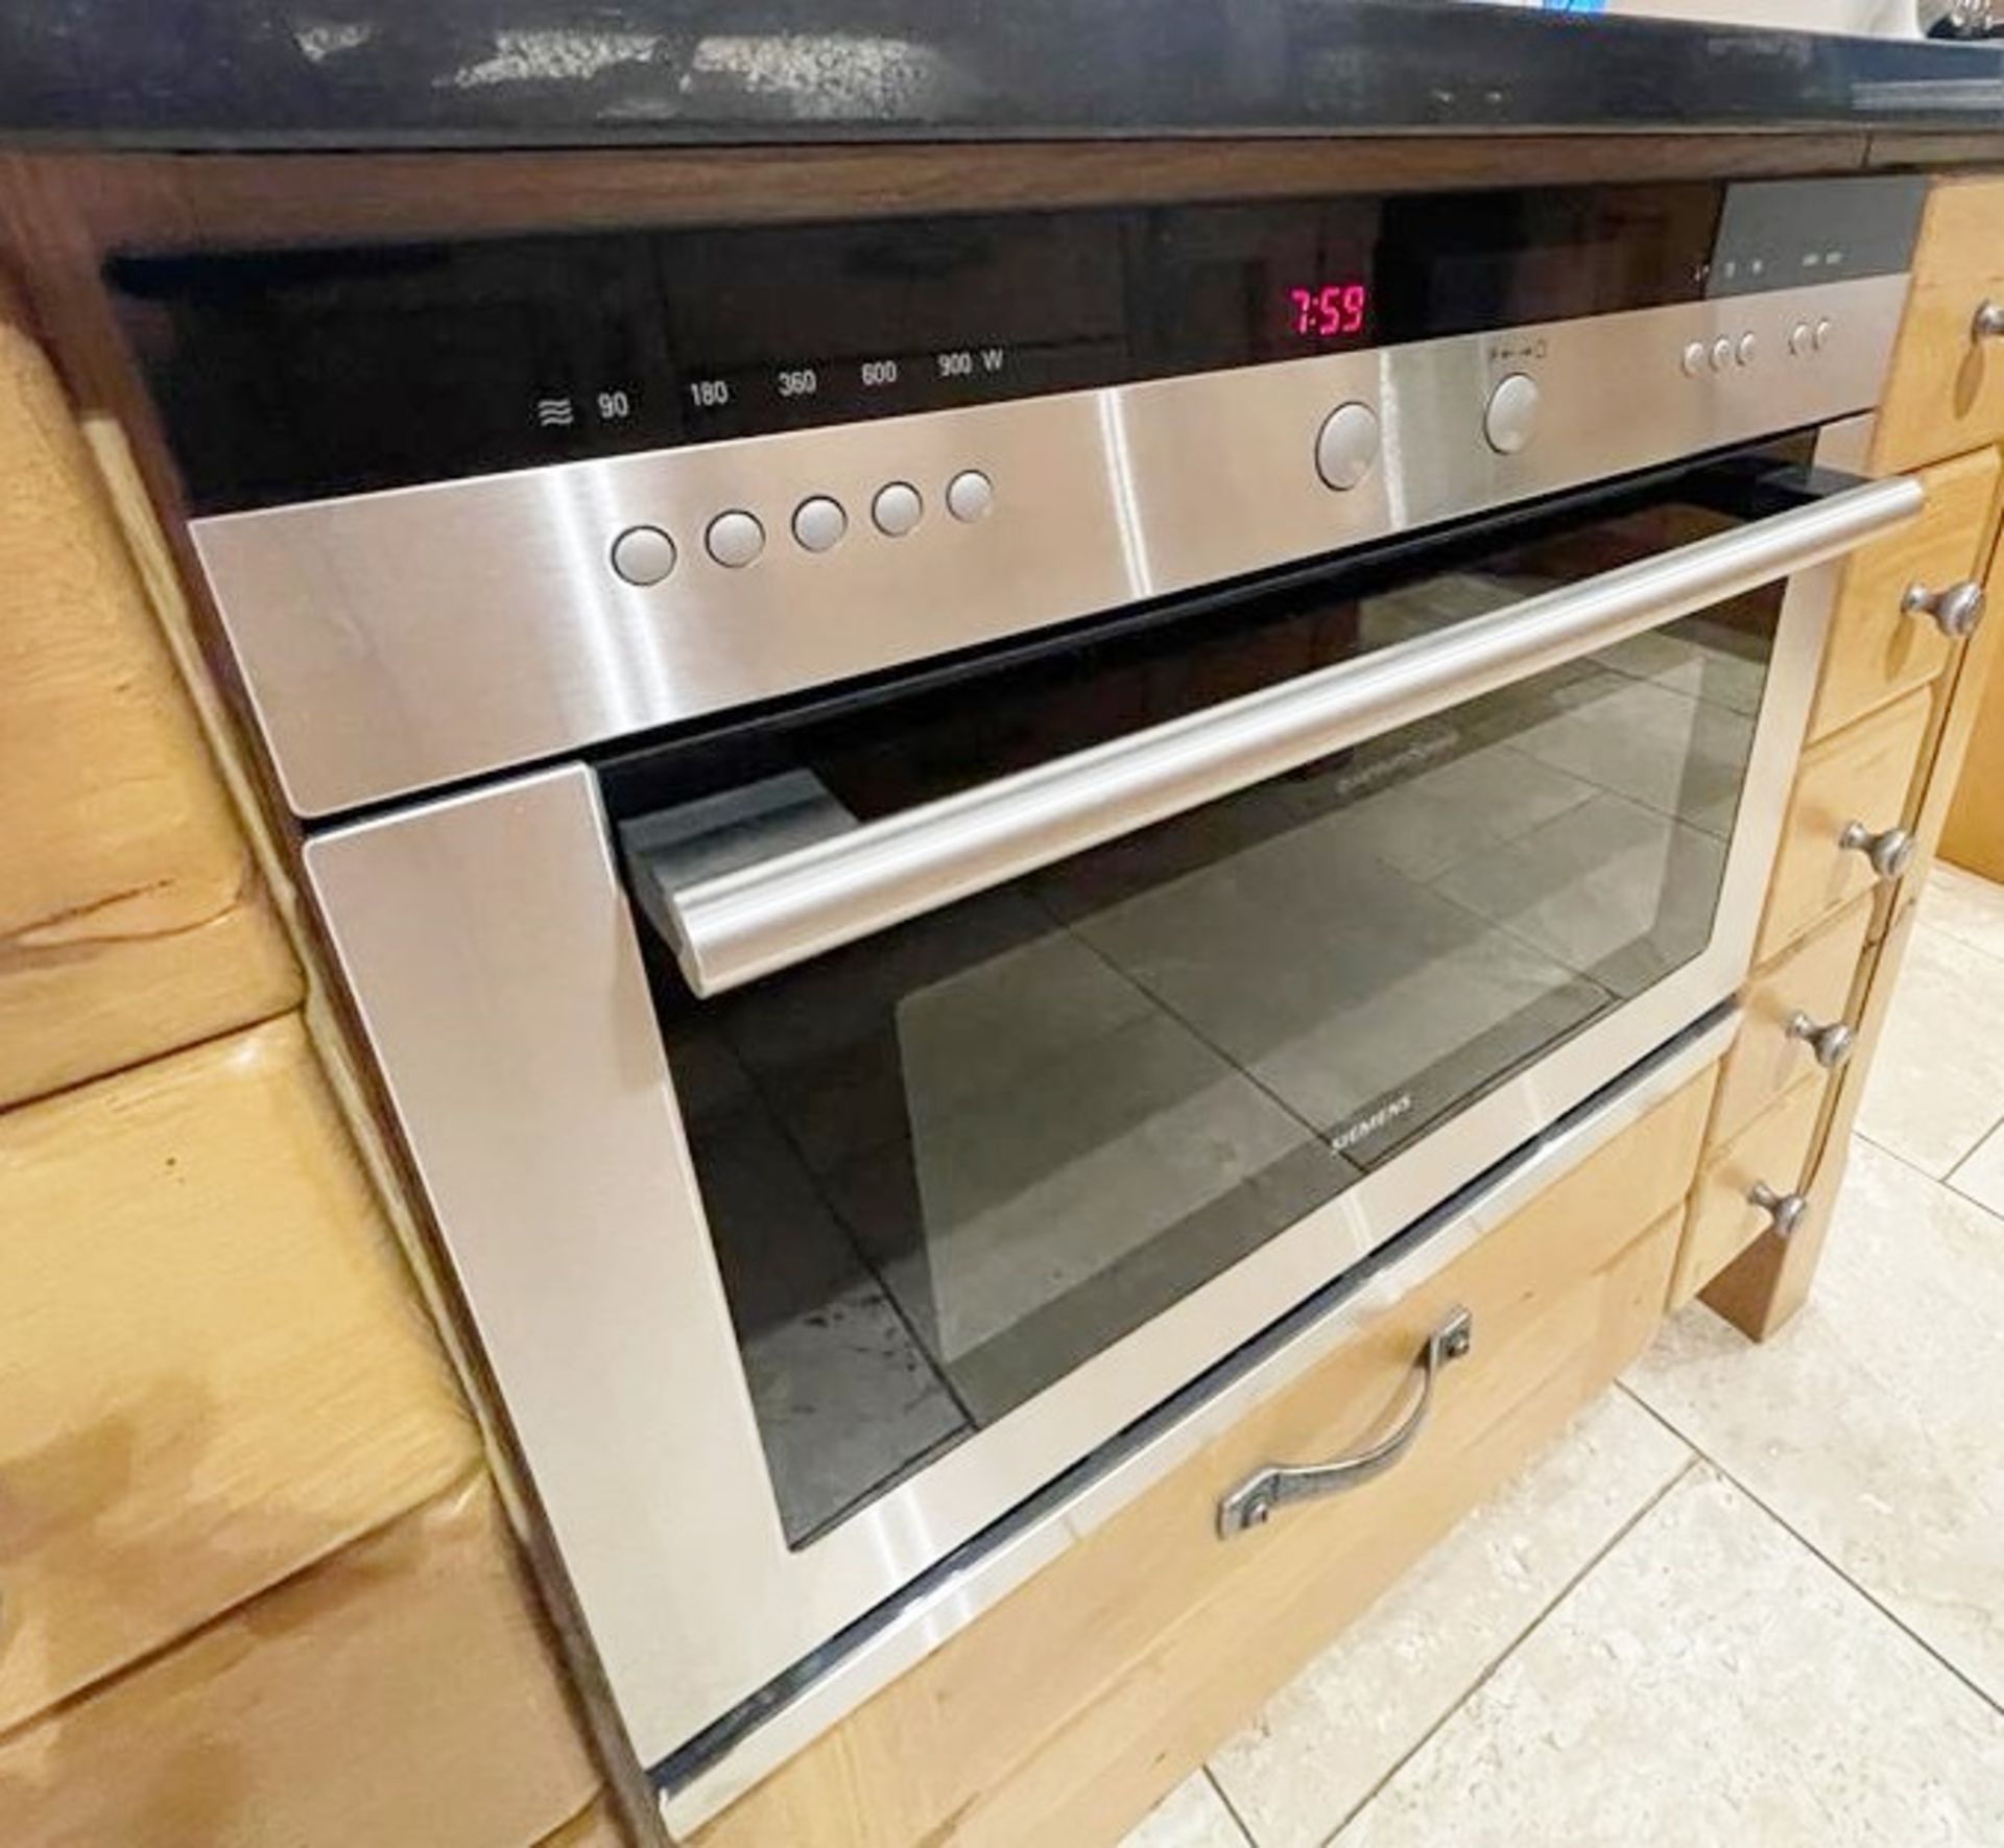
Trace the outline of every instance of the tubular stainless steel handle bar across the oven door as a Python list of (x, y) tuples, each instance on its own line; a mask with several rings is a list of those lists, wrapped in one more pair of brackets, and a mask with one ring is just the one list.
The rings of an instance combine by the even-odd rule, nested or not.
[(886, 816), (661, 894), (699, 996), (1232, 796), (1852, 551), (1924, 505), (1896, 475), (1585, 583)]

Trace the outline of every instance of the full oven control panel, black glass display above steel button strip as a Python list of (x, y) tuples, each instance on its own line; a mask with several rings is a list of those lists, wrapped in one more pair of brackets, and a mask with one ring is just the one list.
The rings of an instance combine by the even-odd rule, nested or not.
[(1796, 184), (120, 281), (279, 782), (331, 818), (1870, 411), (1920, 188)]

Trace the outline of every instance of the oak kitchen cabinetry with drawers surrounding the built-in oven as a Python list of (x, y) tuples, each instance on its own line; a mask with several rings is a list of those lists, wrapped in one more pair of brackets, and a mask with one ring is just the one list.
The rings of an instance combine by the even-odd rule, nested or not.
[[(531, 1571), (537, 1515), (190, 609), (100, 253), (162, 228), (240, 243), (637, 208), (1287, 194), (1357, 182), (1357, 158), (1301, 142), (976, 164), (824, 150), (784, 172), (723, 152), (8, 166), (0, 1365), (24, 1359), (28, 1383), (10, 1373), (0, 1403), (0, 1836), (581, 1848), (651, 1828), (593, 1668), (561, 1640), (561, 1589)], [(1497, 158), (1573, 176), (1810, 156), (1625, 140), (1373, 158), (1443, 184)], [(1972, 325), (2004, 287), (2000, 249), (2004, 180), (1942, 178), (1872, 451), (1874, 471), (1922, 471), (1930, 511), (1840, 589), (1733, 1050), (808, 1744), (703, 1842), (1114, 1840), (1599, 1393), (1669, 1303), (1701, 1291), (1756, 1337), (1802, 1303), (1998, 645), (1996, 623), (1960, 639), (1900, 605), (1910, 583), (1990, 571), (2004, 345)], [(1908, 842), (1874, 864), (1838, 840), (1854, 820)], [(1481, 1335), (1443, 1371), (1401, 1469), (1214, 1537), (1216, 1497), (1248, 1465), (1337, 1451), (1397, 1413), (1457, 1307)], [(315, 1750), (331, 1732), (343, 1752)], [(112, 1754), (118, 1780), (98, 1774)]]

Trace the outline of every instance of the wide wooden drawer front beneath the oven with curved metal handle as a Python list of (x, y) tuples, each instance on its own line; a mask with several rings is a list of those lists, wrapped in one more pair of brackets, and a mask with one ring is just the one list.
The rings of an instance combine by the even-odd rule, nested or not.
[[(711, 1822), (703, 1848), (1114, 1842), (1647, 1343), (1703, 1072)], [(1216, 1537), (1275, 1461), (1385, 1429), (1445, 1313), (1473, 1347), (1377, 1481)]]

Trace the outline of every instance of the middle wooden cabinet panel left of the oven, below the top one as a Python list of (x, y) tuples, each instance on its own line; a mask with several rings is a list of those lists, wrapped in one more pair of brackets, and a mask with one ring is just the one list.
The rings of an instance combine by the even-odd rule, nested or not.
[(477, 1467), (297, 1018), (0, 1116), (0, 1730)]

